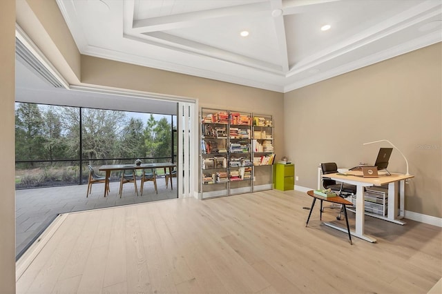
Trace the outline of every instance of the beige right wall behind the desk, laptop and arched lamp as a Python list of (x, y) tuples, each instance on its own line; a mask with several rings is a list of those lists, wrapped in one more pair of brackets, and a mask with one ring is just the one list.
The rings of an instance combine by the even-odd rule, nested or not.
[[(407, 157), (405, 210), (442, 217), (442, 46), (416, 50), (285, 95), (285, 149), (296, 185), (316, 188), (317, 166), (374, 164), (388, 139)], [(394, 150), (388, 168), (405, 173)]]

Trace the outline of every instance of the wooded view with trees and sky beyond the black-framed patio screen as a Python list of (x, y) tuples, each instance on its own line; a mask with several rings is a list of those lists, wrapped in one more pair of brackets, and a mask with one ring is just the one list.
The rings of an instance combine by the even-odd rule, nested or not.
[(176, 161), (175, 122), (175, 115), (17, 102), (16, 188), (87, 183), (88, 164)]

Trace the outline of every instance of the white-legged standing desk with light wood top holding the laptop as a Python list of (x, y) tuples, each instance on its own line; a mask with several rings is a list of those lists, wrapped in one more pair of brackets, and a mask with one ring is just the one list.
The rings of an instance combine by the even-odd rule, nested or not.
[[(385, 219), (389, 222), (394, 222), (396, 224), (405, 224), (400, 219), (403, 218), (405, 205), (405, 179), (410, 179), (414, 177), (414, 175), (401, 175), (397, 173), (392, 173), (392, 175), (380, 175), (376, 178), (365, 178), (365, 177), (356, 177), (354, 175), (338, 175), (337, 173), (331, 173), (327, 175), (323, 175), (323, 177), (327, 177), (329, 179), (334, 179), (338, 182), (343, 182), (345, 184), (356, 185), (356, 228), (355, 231), (352, 231), (352, 235), (355, 237), (365, 239), (369, 242), (376, 242), (376, 239), (373, 237), (369, 237), (364, 234), (364, 216), (370, 215), (372, 217), (378, 217), (381, 219)], [(387, 208), (387, 217), (383, 217), (382, 215), (376, 215), (374, 213), (365, 212), (364, 208), (364, 187), (371, 186), (382, 186), (388, 184), (388, 208)], [(398, 187), (398, 185), (400, 185)], [(398, 191), (399, 197), (401, 201), (399, 202), (400, 208), (398, 213)], [(331, 226), (332, 228), (336, 228), (340, 231), (344, 231), (343, 228), (339, 226), (335, 226), (334, 224), (324, 223), (327, 226)]]

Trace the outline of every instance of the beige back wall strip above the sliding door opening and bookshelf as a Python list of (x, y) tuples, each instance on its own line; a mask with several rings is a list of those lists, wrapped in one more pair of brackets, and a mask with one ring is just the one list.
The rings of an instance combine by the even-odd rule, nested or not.
[(273, 115), (275, 150), (278, 154), (284, 152), (282, 149), (284, 95), (280, 92), (84, 55), (81, 56), (81, 77), (84, 84), (198, 99), (200, 107)]

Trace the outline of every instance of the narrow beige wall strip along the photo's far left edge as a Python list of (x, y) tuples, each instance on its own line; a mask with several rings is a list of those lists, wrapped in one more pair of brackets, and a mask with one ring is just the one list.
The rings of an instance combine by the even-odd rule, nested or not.
[(15, 0), (0, 1), (0, 293), (15, 293)]

